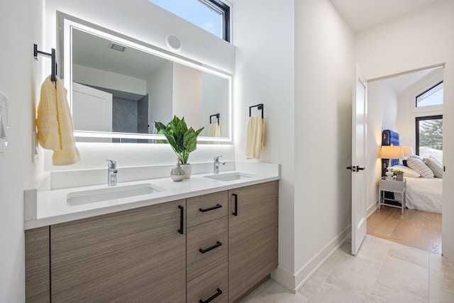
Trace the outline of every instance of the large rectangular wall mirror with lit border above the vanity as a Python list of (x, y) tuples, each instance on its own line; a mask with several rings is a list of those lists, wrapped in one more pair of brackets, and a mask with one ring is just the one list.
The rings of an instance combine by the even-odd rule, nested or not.
[[(176, 115), (204, 127), (199, 143), (231, 142), (230, 74), (65, 13), (57, 20), (77, 141), (155, 143), (164, 137), (154, 122)], [(210, 123), (221, 136), (209, 137)]]

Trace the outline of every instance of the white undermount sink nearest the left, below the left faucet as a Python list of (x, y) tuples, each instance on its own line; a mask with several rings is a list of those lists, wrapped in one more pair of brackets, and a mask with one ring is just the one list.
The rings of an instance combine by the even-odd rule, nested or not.
[(68, 205), (82, 205), (121, 199), (127, 197), (140, 196), (142, 194), (153, 194), (160, 192), (153, 184), (133, 184), (126, 186), (106, 187), (101, 189), (90, 189), (81, 192), (70, 192), (67, 194), (66, 201)]

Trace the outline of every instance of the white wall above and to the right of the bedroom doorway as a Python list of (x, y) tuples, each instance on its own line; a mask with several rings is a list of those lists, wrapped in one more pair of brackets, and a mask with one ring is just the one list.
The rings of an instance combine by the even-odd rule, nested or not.
[(445, 63), (443, 104), (443, 255), (454, 258), (454, 1), (435, 2), (356, 35), (355, 56), (367, 79)]

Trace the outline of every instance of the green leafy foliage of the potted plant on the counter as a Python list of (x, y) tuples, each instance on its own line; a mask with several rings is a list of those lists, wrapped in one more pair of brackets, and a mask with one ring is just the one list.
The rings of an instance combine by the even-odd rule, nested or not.
[(203, 127), (194, 131), (194, 128), (187, 128), (184, 117), (179, 119), (174, 116), (172, 121), (167, 125), (161, 122), (155, 122), (157, 131), (164, 135), (167, 142), (172, 146), (173, 151), (177, 154), (179, 162), (187, 164), (189, 154), (197, 148), (197, 136), (204, 129)]

